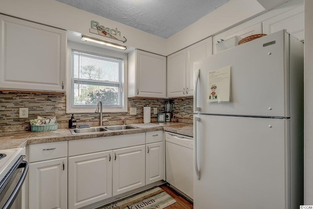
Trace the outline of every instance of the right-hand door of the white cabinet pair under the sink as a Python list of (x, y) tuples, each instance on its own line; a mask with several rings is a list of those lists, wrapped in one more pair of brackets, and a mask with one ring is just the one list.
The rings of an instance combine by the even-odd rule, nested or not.
[(113, 196), (145, 186), (145, 145), (113, 150)]

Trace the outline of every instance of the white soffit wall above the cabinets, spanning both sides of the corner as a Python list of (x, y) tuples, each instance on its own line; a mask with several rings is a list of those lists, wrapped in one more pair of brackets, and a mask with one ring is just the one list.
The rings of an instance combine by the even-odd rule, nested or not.
[(55, 0), (0, 0), (0, 13), (99, 38), (89, 33), (90, 21), (95, 20), (106, 27), (117, 27), (127, 38), (127, 46), (165, 56), (262, 11), (264, 8), (257, 0), (229, 0), (169, 39), (163, 39)]

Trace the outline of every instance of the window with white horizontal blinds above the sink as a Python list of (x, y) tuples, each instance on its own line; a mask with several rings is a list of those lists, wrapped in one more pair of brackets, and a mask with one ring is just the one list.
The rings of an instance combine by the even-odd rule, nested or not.
[(72, 107), (123, 107), (122, 59), (74, 49), (71, 59)]

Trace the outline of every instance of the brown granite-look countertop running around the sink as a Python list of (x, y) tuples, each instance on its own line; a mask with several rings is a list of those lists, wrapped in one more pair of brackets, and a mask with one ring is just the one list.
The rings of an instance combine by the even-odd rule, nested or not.
[(69, 129), (58, 129), (56, 131), (47, 131), (47, 132), (30, 132), (30, 131), (2, 132), (0, 133), (0, 150), (25, 147), (26, 144), (117, 136), (123, 134), (135, 134), (158, 130), (169, 131), (189, 137), (193, 136), (193, 125), (189, 123), (165, 122), (153, 124), (161, 124), (162, 126), (151, 128), (126, 129), (119, 131), (108, 131), (100, 133), (75, 134), (75, 135), (72, 135)]

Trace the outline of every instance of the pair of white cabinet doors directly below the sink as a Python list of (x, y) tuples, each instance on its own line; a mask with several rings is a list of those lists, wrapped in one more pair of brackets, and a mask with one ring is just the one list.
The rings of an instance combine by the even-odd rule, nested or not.
[(68, 158), (68, 208), (145, 186), (145, 145)]

